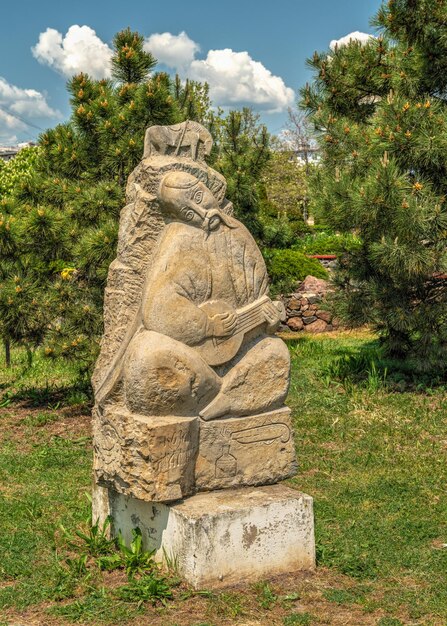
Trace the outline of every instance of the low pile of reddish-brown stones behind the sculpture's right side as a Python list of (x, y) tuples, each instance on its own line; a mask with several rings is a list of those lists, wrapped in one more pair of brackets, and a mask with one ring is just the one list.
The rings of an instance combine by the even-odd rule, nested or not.
[(324, 306), (329, 291), (328, 281), (307, 276), (295, 293), (283, 298), (286, 322), (282, 330), (323, 333), (338, 328), (338, 320)]

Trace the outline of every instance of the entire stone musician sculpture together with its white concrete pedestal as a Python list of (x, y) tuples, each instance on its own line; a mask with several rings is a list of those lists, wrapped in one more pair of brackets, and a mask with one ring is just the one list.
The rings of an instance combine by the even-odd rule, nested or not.
[(139, 526), (194, 586), (315, 559), (312, 499), (272, 484), (296, 470), (284, 310), (211, 147), (196, 122), (147, 130), (92, 381), (93, 517)]

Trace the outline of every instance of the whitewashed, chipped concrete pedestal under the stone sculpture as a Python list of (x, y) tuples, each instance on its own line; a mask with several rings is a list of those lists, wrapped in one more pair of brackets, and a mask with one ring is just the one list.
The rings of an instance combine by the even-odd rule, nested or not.
[(126, 542), (138, 526), (145, 548), (175, 562), (195, 588), (315, 567), (312, 498), (283, 485), (199, 493), (170, 505), (96, 487), (93, 519), (107, 515)]

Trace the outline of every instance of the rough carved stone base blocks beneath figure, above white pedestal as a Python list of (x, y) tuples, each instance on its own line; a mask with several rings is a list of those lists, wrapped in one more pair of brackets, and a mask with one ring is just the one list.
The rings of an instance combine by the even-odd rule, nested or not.
[(205, 422), (108, 410), (94, 420), (94, 476), (140, 500), (264, 485), (296, 473), (290, 410)]

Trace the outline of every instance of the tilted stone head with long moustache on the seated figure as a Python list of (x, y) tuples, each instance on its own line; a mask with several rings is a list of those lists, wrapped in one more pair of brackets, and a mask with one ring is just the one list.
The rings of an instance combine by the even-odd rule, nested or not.
[(167, 215), (207, 233), (221, 224), (234, 228), (208, 187), (192, 174), (169, 172), (161, 180), (157, 197)]

